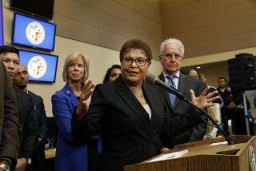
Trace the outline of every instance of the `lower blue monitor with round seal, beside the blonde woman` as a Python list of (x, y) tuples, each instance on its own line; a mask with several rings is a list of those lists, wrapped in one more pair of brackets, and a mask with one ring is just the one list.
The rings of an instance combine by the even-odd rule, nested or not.
[(30, 82), (55, 82), (58, 56), (19, 50), (19, 62), (26, 66)]

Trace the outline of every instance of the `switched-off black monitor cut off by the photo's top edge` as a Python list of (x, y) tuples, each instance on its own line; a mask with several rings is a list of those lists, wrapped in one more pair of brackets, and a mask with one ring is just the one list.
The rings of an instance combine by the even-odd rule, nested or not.
[(10, 9), (51, 20), (54, 14), (54, 0), (10, 0)]

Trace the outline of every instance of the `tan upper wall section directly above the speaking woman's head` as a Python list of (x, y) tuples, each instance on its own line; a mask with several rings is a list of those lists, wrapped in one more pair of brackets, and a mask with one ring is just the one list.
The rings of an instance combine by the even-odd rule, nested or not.
[(130, 38), (149, 43), (154, 58), (162, 41), (159, 0), (56, 0), (57, 35), (120, 50)]

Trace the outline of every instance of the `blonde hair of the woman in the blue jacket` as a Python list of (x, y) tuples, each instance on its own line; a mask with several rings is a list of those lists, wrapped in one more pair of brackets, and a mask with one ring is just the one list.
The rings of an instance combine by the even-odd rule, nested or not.
[(84, 75), (82, 78), (82, 82), (86, 82), (86, 80), (89, 77), (89, 60), (86, 58), (86, 55), (80, 54), (78, 52), (74, 52), (70, 54), (69, 56), (66, 57), (64, 66), (63, 66), (63, 71), (62, 71), (62, 78), (64, 82), (68, 82), (69, 78), (67, 75), (67, 68), (70, 66), (70, 62), (82, 58), (83, 66), (84, 66)]

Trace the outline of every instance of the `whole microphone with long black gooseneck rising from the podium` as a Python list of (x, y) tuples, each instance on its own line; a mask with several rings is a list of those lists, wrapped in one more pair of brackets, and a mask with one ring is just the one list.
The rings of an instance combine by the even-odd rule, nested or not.
[(229, 145), (233, 145), (234, 141), (230, 138), (228, 134), (226, 134), (218, 125), (216, 121), (208, 113), (206, 113), (205, 110), (198, 108), (198, 106), (194, 105), (192, 101), (190, 101), (186, 96), (184, 96), (178, 89), (175, 89), (174, 87), (167, 85), (165, 82), (162, 82), (157, 76), (154, 74), (148, 73), (146, 74), (145, 78), (146, 82), (150, 83), (151, 85), (159, 85), (163, 89), (166, 89), (169, 93), (173, 93), (176, 97), (180, 98), (183, 101), (186, 101), (188, 104), (190, 104), (194, 109), (198, 109), (203, 115), (205, 115), (212, 123), (214, 126), (218, 129), (220, 133), (225, 137), (226, 141), (228, 142)]

